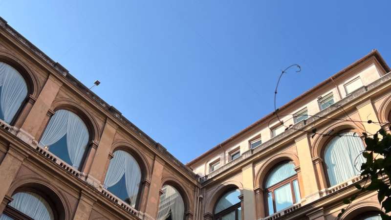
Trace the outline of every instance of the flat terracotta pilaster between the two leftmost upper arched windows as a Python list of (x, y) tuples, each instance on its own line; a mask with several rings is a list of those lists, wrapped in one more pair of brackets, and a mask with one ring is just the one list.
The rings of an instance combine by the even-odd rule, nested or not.
[(49, 78), (46, 80), (37, 101), (35, 101), (26, 117), (26, 120), (24, 120), (20, 132), (18, 133), (18, 137), (27, 143), (30, 143), (33, 139), (38, 140), (42, 132), (40, 131), (42, 122), (62, 84), (62, 82), (58, 81), (52, 75), (49, 75)]

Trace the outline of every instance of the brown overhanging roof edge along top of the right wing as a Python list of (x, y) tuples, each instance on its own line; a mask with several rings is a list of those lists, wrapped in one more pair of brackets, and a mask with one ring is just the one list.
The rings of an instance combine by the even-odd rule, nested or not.
[[(289, 107), (291, 104), (297, 102), (298, 100), (300, 99), (303, 99), (305, 96), (308, 95), (308, 93), (311, 93), (313, 91), (315, 91), (316, 89), (326, 85), (327, 83), (331, 82), (332, 79), (335, 79), (339, 76), (341, 76), (342, 74), (344, 74), (345, 72), (347, 72), (348, 70), (354, 68), (355, 66), (358, 66), (359, 64), (363, 63), (364, 61), (368, 60), (370, 57), (374, 56), (376, 58), (376, 60), (380, 63), (380, 65), (386, 70), (386, 72), (390, 72), (391, 69), (390, 69), (390, 66), (387, 65), (387, 63), (384, 61), (383, 57), (380, 55), (379, 51), (377, 49), (373, 49), (369, 54), (365, 55), (364, 57), (362, 57), (361, 59), (357, 60), (356, 62), (350, 64), (349, 66), (345, 67), (344, 69), (340, 70), (339, 72), (335, 73), (334, 75), (330, 76), (329, 78), (327, 78), (325, 81), (319, 83), (318, 85), (310, 88), (309, 90), (305, 91), (304, 93), (302, 93), (301, 95), (297, 96), (296, 98), (292, 99), (291, 101), (289, 101), (288, 103), (286, 103), (285, 105), (283, 105), (282, 107), (279, 108), (279, 110), (284, 110), (286, 109), (287, 107)], [(231, 137), (229, 137), (228, 139), (224, 140), (223, 142), (217, 144), (215, 147), (213, 147), (212, 149), (208, 150), (207, 152), (195, 157), (193, 160), (191, 160), (190, 162), (186, 163), (186, 166), (191, 166), (191, 165), (194, 165), (196, 162), (200, 161), (202, 158), (204, 158), (206, 155), (208, 154), (211, 154), (215, 151), (217, 151), (218, 149), (221, 148), (222, 145), (225, 145), (227, 143), (229, 143), (230, 141), (238, 138), (240, 135), (246, 133), (246, 132), (249, 132), (251, 129), (253, 129), (254, 127), (260, 125), (261, 123), (265, 122), (267, 119), (269, 119), (271, 116), (274, 115), (274, 111), (273, 112), (270, 112), (269, 114), (265, 115), (264, 117), (262, 117), (261, 119), (259, 119), (258, 121), (254, 122), (253, 124), (251, 124), (250, 126), (248, 126), (247, 128), (241, 130), (240, 132), (232, 135)]]

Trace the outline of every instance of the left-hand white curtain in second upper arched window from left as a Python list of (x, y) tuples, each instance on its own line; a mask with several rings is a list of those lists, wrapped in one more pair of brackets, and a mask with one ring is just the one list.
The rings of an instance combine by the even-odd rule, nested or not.
[(43, 146), (50, 146), (56, 143), (66, 134), (68, 112), (67, 110), (57, 110), (50, 118), (40, 141)]

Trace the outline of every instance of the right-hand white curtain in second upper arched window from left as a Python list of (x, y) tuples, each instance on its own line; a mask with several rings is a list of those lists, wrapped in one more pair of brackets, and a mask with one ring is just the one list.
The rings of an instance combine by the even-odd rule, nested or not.
[(66, 145), (72, 166), (79, 168), (88, 144), (88, 129), (84, 122), (73, 112), (68, 111)]

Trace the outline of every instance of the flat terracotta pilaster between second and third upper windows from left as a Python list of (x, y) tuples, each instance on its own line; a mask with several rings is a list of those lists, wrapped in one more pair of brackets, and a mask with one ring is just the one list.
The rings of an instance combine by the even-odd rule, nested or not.
[(101, 183), (106, 170), (109, 154), (111, 151), (112, 142), (116, 133), (117, 126), (109, 118), (106, 119), (106, 124), (102, 132), (101, 140), (98, 148), (90, 160), (91, 167), (89, 168), (88, 180), (92, 182)]

